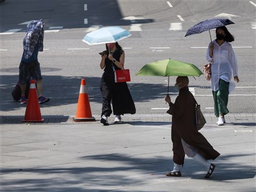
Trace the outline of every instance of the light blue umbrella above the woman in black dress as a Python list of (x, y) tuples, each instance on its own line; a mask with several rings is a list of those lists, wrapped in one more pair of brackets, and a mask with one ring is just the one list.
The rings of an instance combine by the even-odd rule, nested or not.
[(116, 41), (123, 40), (130, 35), (129, 31), (122, 29), (121, 27), (102, 27), (101, 29), (94, 30), (93, 32), (85, 35), (82, 41), (90, 45), (114, 43)]

